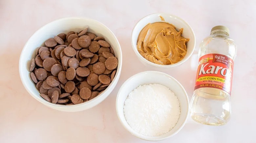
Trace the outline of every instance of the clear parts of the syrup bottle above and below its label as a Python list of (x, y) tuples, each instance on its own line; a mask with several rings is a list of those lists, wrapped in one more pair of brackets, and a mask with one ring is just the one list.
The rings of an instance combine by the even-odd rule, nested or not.
[[(222, 30), (215, 30), (205, 38), (199, 49), (199, 57), (206, 54), (222, 54), (234, 60), (236, 44)], [(194, 91), (190, 104), (191, 117), (206, 125), (224, 125), (230, 119), (230, 95), (217, 88), (204, 87)]]

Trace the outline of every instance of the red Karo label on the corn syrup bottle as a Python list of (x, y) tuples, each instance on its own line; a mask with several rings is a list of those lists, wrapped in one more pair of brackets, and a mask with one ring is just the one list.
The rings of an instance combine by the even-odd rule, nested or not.
[(233, 60), (221, 54), (207, 54), (199, 58), (195, 90), (218, 88), (231, 93)]

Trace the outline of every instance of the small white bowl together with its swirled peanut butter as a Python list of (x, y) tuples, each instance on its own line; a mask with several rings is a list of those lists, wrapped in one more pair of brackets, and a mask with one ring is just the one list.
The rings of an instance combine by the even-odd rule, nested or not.
[(183, 19), (169, 13), (145, 16), (132, 31), (132, 47), (139, 60), (160, 68), (181, 65), (193, 54), (196, 39)]

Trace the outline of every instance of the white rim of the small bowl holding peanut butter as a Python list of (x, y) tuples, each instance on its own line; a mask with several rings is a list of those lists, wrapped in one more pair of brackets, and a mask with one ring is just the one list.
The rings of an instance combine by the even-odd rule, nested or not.
[[(143, 56), (141, 56), (141, 55), (139, 54), (139, 52), (138, 52), (138, 50), (137, 50), (137, 46), (136, 46), (136, 47), (133, 46), (133, 38), (132, 38), (132, 37), (133, 37), (133, 35), (134, 35), (135, 29), (139, 26), (139, 23), (140, 23), (142, 20), (144, 20), (144, 19), (146, 19), (146, 18), (148, 18), (148, 17), (150, 17), (150, 16), (154, 16), (154, 15), (157, 15), (157, 16), (160, 16), (160, 15), (169, 15), (169, 16), (171, 16), (171, 17), (175, 17), (175, 18), (181, 20), (184, 24), (186, 24), (186, 25), (189, 27), (189, 30), (192, 31), (192, 34), (193, 34), (193, 35), (192, 35), (192, 38), (193, 38), (193, 40), (194, 40), (195, 42), (194, 42), (193, 49), (192, 49), (191, 53), (190, 53), (186, 58), (183, 58), (181, 61), (179, 61), (179, 62), (177, 62), (177, 63), (175, 63), (175, 64), (171, 64), (171, 65), (159, 65), (159, 64), (150, 62), (150, 61), (148, 61), (147, 59), (145, 59)], [(162, 21), (159, 21), (159, 22), (162, 22)], [(191, 39), (192, 39), (192, 38), (191, 38)], [(138, 41), (138, 37), (137, 37), (137, 41)], [(180, 18), (180, 17), (178, 17), (178, 16), (176, 16), (176, 15), (167, 13), (167, 12), (157, 12), (157, 13), (152, 13), (152, 14), (149, 14), (149, 15), (144, 16), (143, 18), (141, 18), (141, 19), (135, 24), (135, 26), (133, 27), (133, 30), (132, 30), (131, 43), (132, 43), (133, 51), (135, 52), (135, 54), (137, 55), (137, 57), (139, 57), (139, 59), (141, 59), (141, 60), (144, 61), (145, 63), (147, 63), (147, 64), (149, 64), (149, 65), (151, 65), (151, 66), (154, 66), (154, 67), (159, 67), (159, 68), (171, 68), (171, 67), (176, 67), (176, 66), (179, 66), (179, 65), (183, 64), (184, 62), (186, 62), (186, 61), (190, 58), (190, 56), (193, 54), (193, 52), (194, 52), (194, 50), (195, 50), (195, 47), (196, 47), (196, 36), (195, 36), (194, 30), (192, 29), (192, 27), (191, 27), (185, 20), (183, 20), (182, 18)], [(187, 54), (187, 53), (186, 53), (186, 54)]]

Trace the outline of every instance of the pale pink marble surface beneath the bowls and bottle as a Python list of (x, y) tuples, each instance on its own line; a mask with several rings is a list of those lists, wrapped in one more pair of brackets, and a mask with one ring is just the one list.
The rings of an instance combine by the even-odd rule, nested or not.
[[(117, 119), (115, 101), (122, 83), (140, 71), (155, 70), (138, 62), (131, 47), (131, 31), (140, 18), (155, 12), (168, 12), (186, 20), (196, 34), (194, 55), (179, 67), (166, 72), (193, 93), (198, 45), (215, 25), (226, 25), (237, 45), (235, 59), (232, 117), (219, 127), (196, 123), (191, 118), (175, 136), (160, 142), (256, 142), (256, 1), (0, 1), (0, 142), (147, 142), (126, 131)], [(120, 42), (123, 66), (111, 95), (96, 107), (66, 113), (36, 101), (23, 87), (18, 73), (21, 50), (38, 28), (58, 18), (84, 16), (108, 26)], [(183, 76), (180, 76), (183, 74)]]

